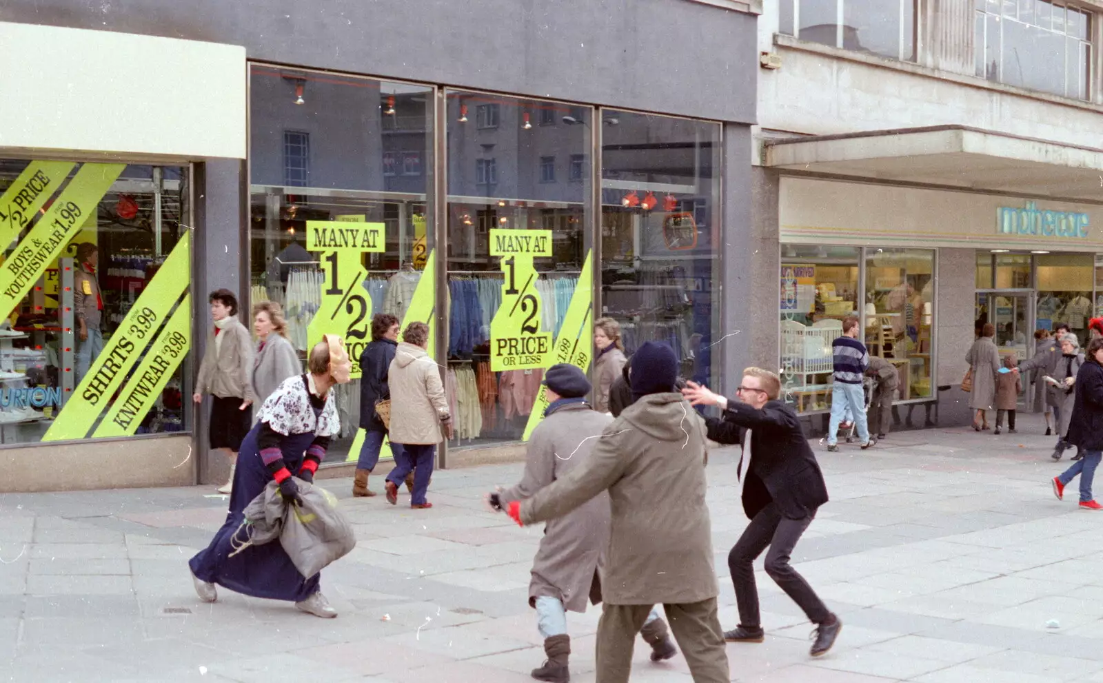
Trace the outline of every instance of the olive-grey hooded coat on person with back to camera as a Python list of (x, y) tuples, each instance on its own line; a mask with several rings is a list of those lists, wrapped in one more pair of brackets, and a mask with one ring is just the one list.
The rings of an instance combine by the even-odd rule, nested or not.
[(601, 573), (604, 602), (683, 605), (715, 598), (705, 420), (681, 394), (650, 394), (593, 440), (581, 466), (521, 503), (521, 520), (561, 517), (608, 490), (612, 517)]

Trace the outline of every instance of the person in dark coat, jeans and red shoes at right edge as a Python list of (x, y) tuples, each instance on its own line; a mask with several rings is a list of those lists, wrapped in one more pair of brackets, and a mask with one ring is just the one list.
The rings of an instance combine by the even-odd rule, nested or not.
[(1080, 474), (1080, 506), (1103, 510), (1092, 498), (1095, 468), (1103, 458), (1103, 339), (1093, 339), (1080, 372), (1077, 373), (1075, 401), (1069, 423), (1068, 440), (1083, 448), (1084, 457), (1053, 478), (1053, 493), (1064, 498), (1064, 487)]

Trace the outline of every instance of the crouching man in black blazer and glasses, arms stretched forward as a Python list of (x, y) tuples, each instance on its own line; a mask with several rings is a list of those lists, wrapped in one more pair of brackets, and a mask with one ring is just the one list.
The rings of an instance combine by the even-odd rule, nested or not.
[(796, 413), (778, 401), (781, 381), (768, 370), (748, 367), (736, 389), (736, 401), (695, 382), (687, 382), (682, 393), (695, 406), (715, 405), (724, 410), (720, 419), (707, 418), (708, 438), (743, 447), (739, 479), (743, 484), (743, 512), (751, 522), (728, 554), (740, 623), (726, 631), (724, 639), (762, 642), (764, 638), (753, 562), (769, 546), (765, 573), (816, 625), (812, 657), (826, 653), (843, 622), (789, 564), (789, 558), (816, 510), (827, 502), (827, 487)]

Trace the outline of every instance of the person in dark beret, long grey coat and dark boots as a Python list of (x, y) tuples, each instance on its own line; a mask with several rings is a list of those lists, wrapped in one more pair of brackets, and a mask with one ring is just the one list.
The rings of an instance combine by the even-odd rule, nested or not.
[[(489, 494), (495, 509), (529, 498), (580, 467), (612, 423), (586, 401), (590, 382), (577, 366), (553, 365), (544, 375), (544, 387), (548, 407), (528, 441), (525, 474), (512, 489)], [(587, 600), (601, 601), (599, 570), (609, 547), (609, 494), (602, 492), (545, 527), (528, 584), (528, 605), (536, 609), (547, 654), (544, 665), (533, 670), (537, 681), (569, 680), (567, 610), (585, 612)], [(677, 654), (657, 610), (651, 610), (641, 633), (652, 647), (652, 661)]]

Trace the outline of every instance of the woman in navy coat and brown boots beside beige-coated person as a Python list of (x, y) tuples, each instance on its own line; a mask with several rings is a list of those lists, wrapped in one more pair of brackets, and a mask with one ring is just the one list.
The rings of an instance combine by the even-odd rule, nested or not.
[[(390, 398), (387, 372), (398, 349), (398, 318), (377, 313), (372, 318), (372, 341), (360, 356), (360, 428), (364, 430), (364, 445), (352, 484), (352, 494), (357, 498), (375, 495), (375, 491), (367, 488), (367, 477), (379, 462), (379, 449), (387, 436), (387, 427), (375, 412), (375, 402)], [(390, 445), (396, 460), (401, 457), (401, 448)]]

